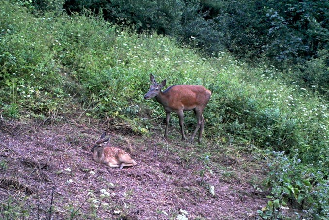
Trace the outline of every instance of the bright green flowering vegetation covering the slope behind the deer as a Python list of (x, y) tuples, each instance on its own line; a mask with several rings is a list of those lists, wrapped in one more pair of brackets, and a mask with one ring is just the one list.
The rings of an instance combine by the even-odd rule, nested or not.
[[(114, 118), (149, 135), (154, 129), (149, 118), (159, 124), (163, 114), (156, 102), (143, 100), (150, 72), (167, 85), (204, 85), (212, 91), (204, 112), (208, 141), (252, 145), (268, 161), (273, 202), (260, 215), (274, 218), (280, 206), (294, 203), (304, 218), (329, 218), (329, 105), (327, 97), (313, 93), (316, 86), (328, 91), (328, 51), (287, 70), (296, 74), (287, 77), (274, 66), (252, 67), (228, 52), (205, 57), (171, 37), (138, 33), (89, 12), (34, 15), (32, 5), (22, 2), (0, 3), (5, 119), (45, 120), (83, 108), (88, 117)], [(300, 74), (315, 87), (294, 80)], [(186, 114), (185, 123), (193, 129), (193, 114)], [(205, 158), (204, 163), (211, 160)], [(3, 210), (11, 211), (7, 206)], [(72, 218), (78, 215), (74, 204), (68, 209)]]

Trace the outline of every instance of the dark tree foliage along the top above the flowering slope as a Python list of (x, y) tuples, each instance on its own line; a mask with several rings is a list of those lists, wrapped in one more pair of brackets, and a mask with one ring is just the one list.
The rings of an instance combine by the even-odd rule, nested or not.
[(208, 54), (225, 46), (240, 57), (296, 64), (329, 47), (327, 0), (68, 0), (64, 7), (101, 10), (138, 31), (193, 36)]

